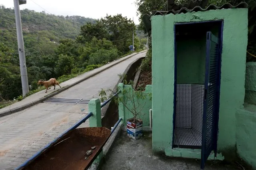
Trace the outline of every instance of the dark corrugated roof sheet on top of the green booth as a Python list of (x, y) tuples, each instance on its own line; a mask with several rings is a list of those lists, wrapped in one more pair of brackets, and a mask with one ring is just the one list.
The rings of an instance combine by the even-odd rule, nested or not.
[[(198, 2), (198, 1), (196, 1)], [(198, 11), (208, 11), (208, 10), (217, 10), (217, 9), (232, 9), (232, 8), (248, 8), (248, 4), (245, 2), (241, 2), (237, 6), (233, 6), (229, 3), (222, 5), (221, 7), (217, 7), (215, 5), (210, 5), (206, 9), (202, 8), (201, 6), (197, 6), (198, 3), (191, 1), (190, 3), (186, 3), (183, 5), (173, 5), (172, 9), (169, 11), (156, 11), (153, 15), (166, 15), (166, 14), (180, 14), (180, 13), (187, 13), (187, 12), (198, 12)], [(169, 8), (169, 6), (168, 6)]]

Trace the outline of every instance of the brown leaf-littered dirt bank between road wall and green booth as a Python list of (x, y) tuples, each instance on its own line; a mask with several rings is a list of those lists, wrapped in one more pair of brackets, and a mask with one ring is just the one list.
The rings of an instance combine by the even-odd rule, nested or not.
[(152, 84), (152, 71), (141, 71), (135, 90), (145, 90), (146, 85)]

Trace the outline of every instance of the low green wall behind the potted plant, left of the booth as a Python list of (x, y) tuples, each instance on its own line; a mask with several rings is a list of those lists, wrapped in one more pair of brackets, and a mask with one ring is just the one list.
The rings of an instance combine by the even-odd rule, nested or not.
[[(119, 87), (120, 86), (123, 86), (123, 89), (126, 91), (126, 93), (132, 92), (131, 90), (129, 90), (129, 89), (132, 89), (131, 85), (123, 85), (123, 83), (120, 83)], [(147, 85), (146, 89), (145, 89), (145, 91), (143, 91), (143, 93), (145, 95), (147, 95), (148, 93), (152, 93), (151, 85)], [(130, 93), (130, 94), (132, 94), (132, 93)], [(125, 94), (125, 95), (128, 95), (128, 94)], [(124, 97), (124, 103), (130, 110), (132, 110), (134, 108), (132, 101), (128, 101), (125, 97)], [(142, 119), (143, 127), (148, 127), (149, 126), (149, 109), (152, 108), (152, 101), (149, 99), (149, 96), (147, 96), (143, 100), (139, 99), (139, 101), (137, 101), (137, 98), (135, 97), (135, 106), (137, 108), (137, 111), (141, 111), (141, 115), (139, 115), (138, 118)], [(133, 114), (123, 105), (121, 108), (119, 108), (119, 117), (120, 116), (123, 117), (125, 125), (126, 125), (127, 119), (133, 118)]]

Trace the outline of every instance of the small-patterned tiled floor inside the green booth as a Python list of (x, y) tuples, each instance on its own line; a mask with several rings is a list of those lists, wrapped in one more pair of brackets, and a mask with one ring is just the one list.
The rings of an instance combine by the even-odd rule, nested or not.
[(174, 143), (183, 146), (202, 146), (202, 134), (193, 128), (175, 128)]

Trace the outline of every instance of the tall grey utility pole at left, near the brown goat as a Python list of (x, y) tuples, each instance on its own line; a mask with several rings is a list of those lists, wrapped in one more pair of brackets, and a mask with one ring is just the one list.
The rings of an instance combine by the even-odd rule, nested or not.
[(18, 51), (20, 58), (20, 77), (22, 84), (22, 95), (23, 97), (29, 92), (28, 89), (28, 73), (26, 67), (25, 49), (23, 42), (21, 18), (20, 18), (20, 5), (26, 4), (26, 0), (14, 0), (14, 12), (16, 20), (17, 40), (18, 40)]

